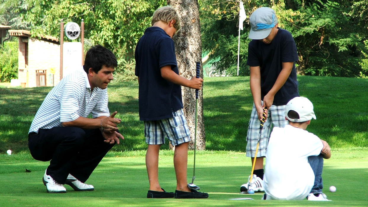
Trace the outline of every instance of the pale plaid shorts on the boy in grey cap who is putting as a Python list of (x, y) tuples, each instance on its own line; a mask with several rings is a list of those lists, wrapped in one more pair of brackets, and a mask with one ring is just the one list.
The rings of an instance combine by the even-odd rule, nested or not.
[[(288, 124), (285, 120), (285, 108), (286, 105), (275, 106), (272, 105), (268, 110), (268, 118), (263, 124), (261, 132), (261, 139), (259, 140), (259, 147), (257, 157), (266, 156), (268, 140), (270, 138), (271, 129), (273, 126), (283, 128)], [(251, 119), (249, 120), (248, 133), (247, 133), (247, 147), (245, 149), (247, 157), (254, 157), (255, 150), (257, 148), (257, 142), (259, 139), (259, 126), (261, 122), (258, 119), (257, 110), (253, 104)]]

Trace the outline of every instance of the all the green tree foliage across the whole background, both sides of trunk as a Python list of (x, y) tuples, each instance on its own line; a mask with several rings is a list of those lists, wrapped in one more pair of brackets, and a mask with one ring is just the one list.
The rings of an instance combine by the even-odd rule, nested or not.
[[(199, 0), (202, 49), (215, 73), (236, 75), (239, 0)], [(279, 26), (297, 44), (297, 71), (306, 75), (360, 76), (368, 39), (367, 0), (243, 0), (247, 16), (272, 7)], [(60, 20), (85, 23), (85, 49), (101, 44), (116, 54), (117, 72), (134, 78), (135, 44), (165, 0), (1, 0), (0, 24), (59, 37)], [(249, 75), (249, 18), (240, 31), (240, 75)], [(124, 65), (124, 66), (123, 66)]]

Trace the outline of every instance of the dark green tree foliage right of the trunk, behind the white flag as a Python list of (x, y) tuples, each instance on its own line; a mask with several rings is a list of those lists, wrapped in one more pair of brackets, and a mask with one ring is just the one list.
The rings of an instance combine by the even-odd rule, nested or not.
[[(235, 75), (239, 1), (201, 1), (203, 48), (217, 72)], [(307, 75), (359, 76), (363, 41), (368, 39), (368, 2), (344, 0), (243, 1), (249, 17), (261, 6), (276, 11), (280, 28), (290, 31), (297, 44), (298, 73)], [(230, 14), (229, 14), (230, 13)], [(248, 75), (249, 20), (240, 32), (240, 74)], [(208, 35), (208, 34), (211, 35)], [(343, 57), (343, 58), (342, 58)]]

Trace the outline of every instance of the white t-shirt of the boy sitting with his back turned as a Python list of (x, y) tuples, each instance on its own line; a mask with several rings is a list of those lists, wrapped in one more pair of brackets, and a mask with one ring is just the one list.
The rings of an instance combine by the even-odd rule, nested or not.
[(303, 200), (314, 185), (309, 156), (321, 153), (321, 140), (304, 129), (274, 127), (266, 153), (265, 193), (275, 200)]

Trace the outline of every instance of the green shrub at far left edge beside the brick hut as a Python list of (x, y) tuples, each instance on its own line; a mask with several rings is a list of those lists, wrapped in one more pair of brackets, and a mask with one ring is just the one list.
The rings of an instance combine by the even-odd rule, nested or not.
[(18, 42), (0, 45), (0, 82), (10, 82), (18, 77)]

